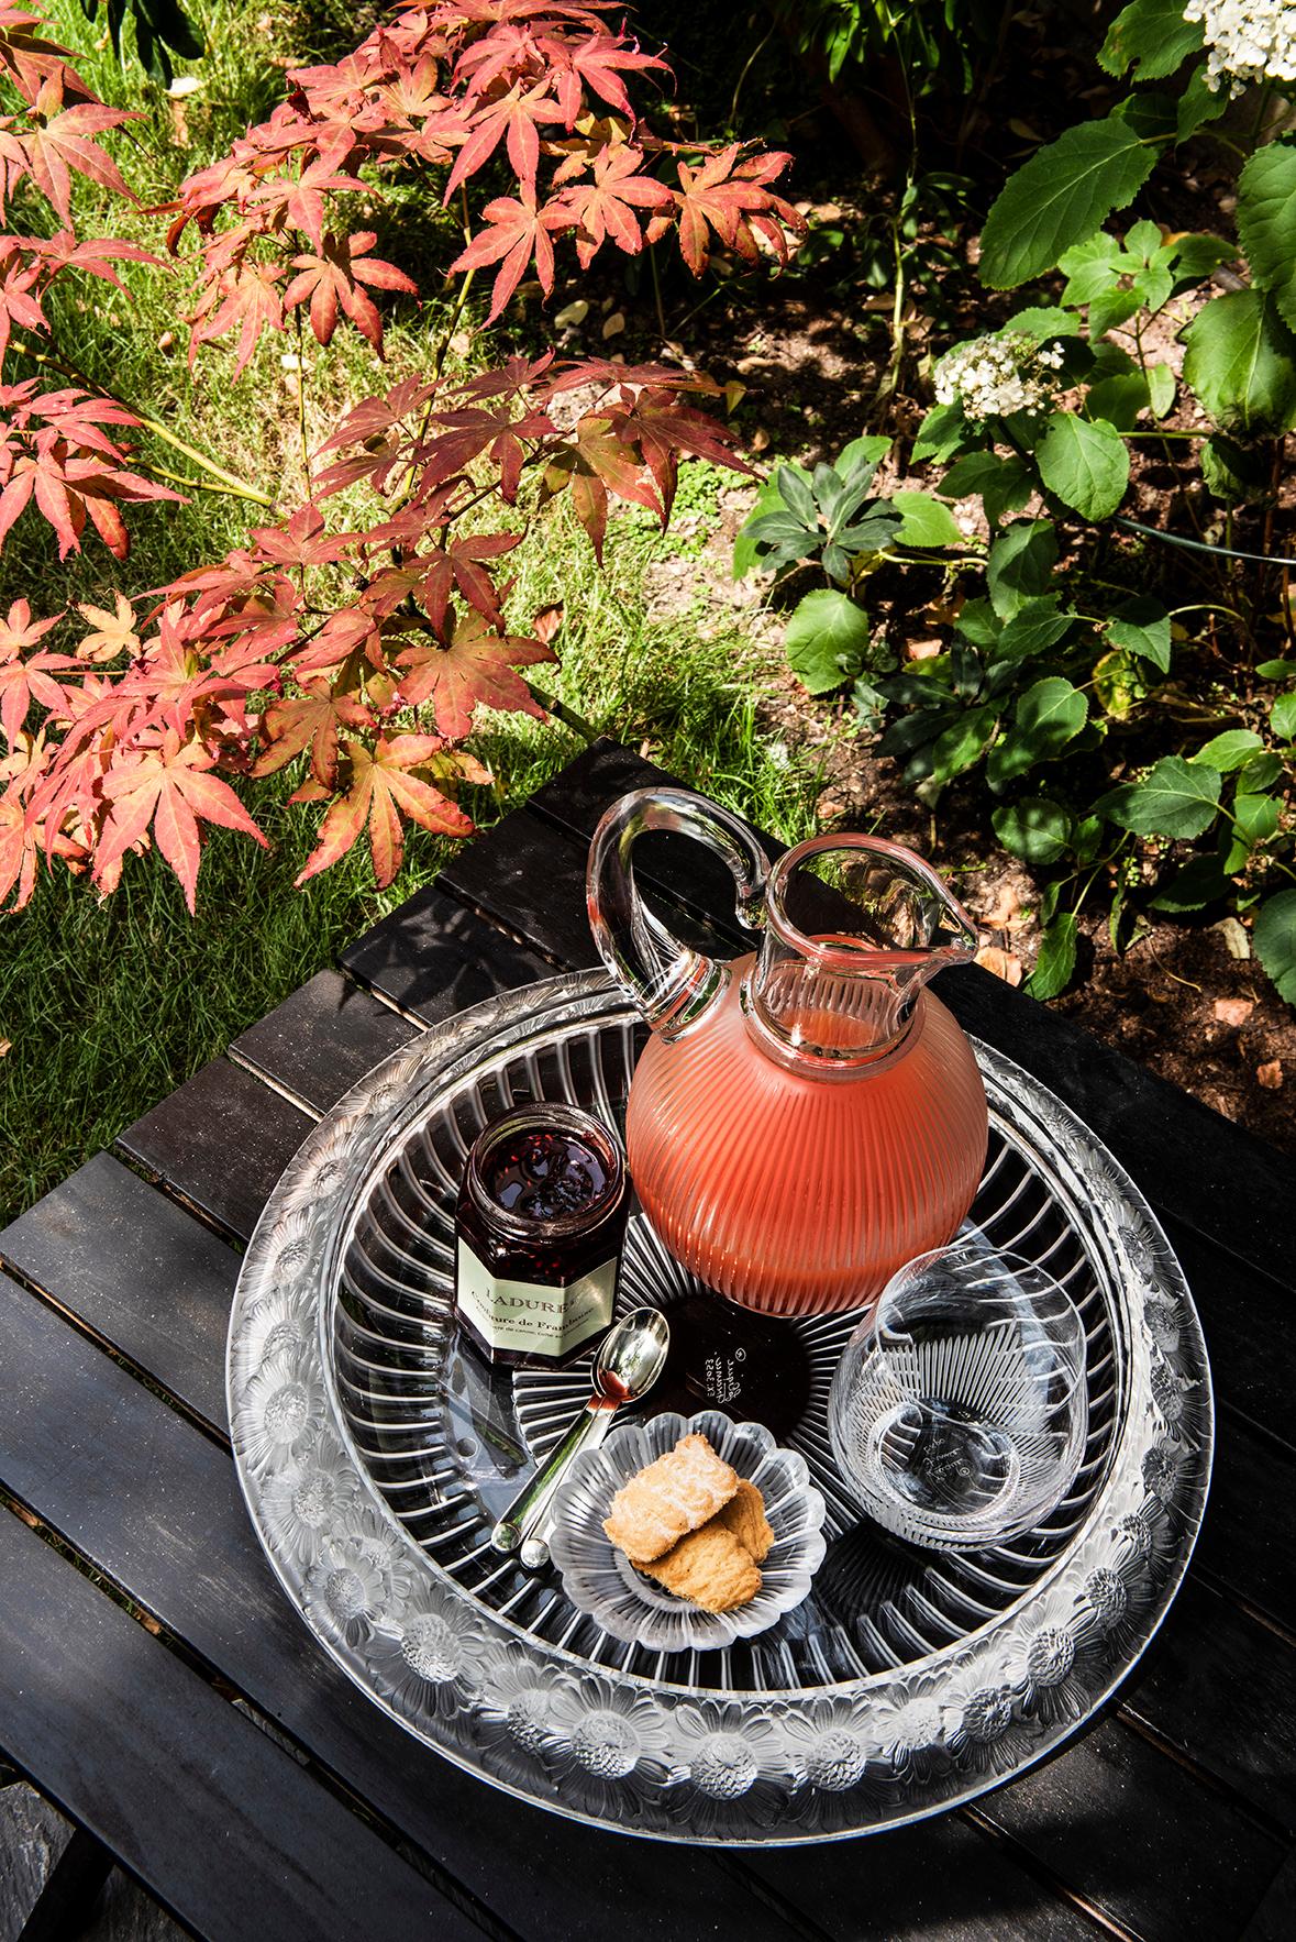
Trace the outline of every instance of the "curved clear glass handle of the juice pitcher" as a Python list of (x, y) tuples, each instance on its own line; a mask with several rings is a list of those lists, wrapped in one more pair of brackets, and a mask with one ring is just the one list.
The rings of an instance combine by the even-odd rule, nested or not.
[(654, 1031), (679, 1037), (722, 996), (729, 967), (695, 952), (640, 899), (631, 851), (648, 829), (697, 837), (722, 856), (737, 886), (737, 917), (764, 921), (768, 858), (751, 829), (691, 788), (632, 788), (607, 810), (590, 845), (586, 903), (599, 955)]

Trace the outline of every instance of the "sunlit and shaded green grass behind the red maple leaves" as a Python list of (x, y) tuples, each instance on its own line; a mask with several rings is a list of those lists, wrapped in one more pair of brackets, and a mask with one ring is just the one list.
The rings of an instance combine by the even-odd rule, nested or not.
[[(270, 111), (281, 93), (274, 54), (314, 54), (324, 45), (318, 37), (334, 31), (328, 6), (299, 23), (297, 41), (293, 23), (281, 23), (279, 45), (258, 29), (250, 10), (229, 4), (196, 12), (211, 52), (194, 66), (204, 87), (184, 103), (186, 148), (175, 140), (171, 105), (134, 64), (118, 70), (111, 54), (80, 62), (105, 99), (147, 109), (128, 140), (118, 138), (116, 151), (149, 202), (169, 200), (188, 169)], [(50, 27), (70, 47), (91, 41), (76, 0), (54, 0)], [(324, 50), (338, 49), (330, 43)], [(83, 188), (78, 219), (85, 235), (95, 231), (97, 206), (97, 190)], [(25, 219), (33, 208), (23, 210)], [(415, 192), (404, 188), (373, 221), (390, 231), (400, 229), (402, 216), (411, 245), (435, 254), (438, 212), (417, 206)], [(103, 204), (103, 223), (111, 233), (159, 245), (161, 219), (118, 202)], [(396, 237), (388, 251), (409, 260)], [(190, 373), (178, 320), (182, 280), (128, 266), (124, 282), (130, 309), (89, 280), (56, 285), (50, 309), (60, 344), (74, 348), (87, 375), (163, 418), (227, 470), (254, 486), (270, 482), (291, 507), (301, 489), (301, 445), (279, 359), (295, 350), (293, 336), (262, 344), (239, 383), (231, 379), (233, 353), (221, 346)], [(431, 274), (419, 282), (437, 287)], [(349, 332), (340, 332), (328, 353), (310, 342), (310, 439), (318, 443), (357, 396), (423, 367), (440, 315), (440, 303), (394, 311), (386, 371)], [(6, 365), (6, 381), (14, 369)], [(163, 456), (165, 449), (153, 443), (151, 452)], [(163, 462), (184, 470), (175, 454)], [(603, 571), (567, 501), (557, 501), (510, 559), (518, 575), (510, 614), (514, 625), (526, 627), (539, 608), (563, 602), (561, 664), (537, 668), (537, 686), (596, 730), (632, 748), (648, 744), (664, 767), (794, 841), (811, 827), (813, 777), (761, 736), (751, 643), (737, 627), (704, 639), (697, 612), (654, 612), (646, 594), (654, 559), (700, 552), (720, 484), (714, 468), (687, 466), (681, 511), (698, 517), (698, 530), (664, 538), (650, 520), (631, 515), (613, 526)], [(37, 614), (78, 600), (111, 606), (111, 588), (140, 594), (157, 586), (241, 544), (246, 528), (266, 517), (213, 493), (194, 493), (184, 507), (136, 509), (128, 515), (132, 553), (118, 567), (93, 538), (81, 555), (58, 565), (49, 528), (29, 511), (0, 555), (0, 602), (25, 596)], [(473, 746), (491, 765), (495, 788), (471, 792), (466, 806), (487, 825), (557, 773), (582, 738), (561, 722), (510, 715), (487, 717)], [(444, 841), (411, 831), (402, 874), (386, 891), (374, 889), (367, 854), (355, 853), (297, 891), (293, 878), (314, 847), (318, 810), (285, 806), (291, 787), (291, 777), (275, 779), (248, 796), (270, 851), (229, 831), (213, 833), (194, 919), (175, 878), (151, 854), (126, 858), (122, 886), (107, 901), (60, 866), (41, 880), (27, 911), (0, 919), (0, 1043), (10, 1045), (0, 1055), (0, 1223), (336, 959), (349, 938), (435, 876), (446, 856)]]

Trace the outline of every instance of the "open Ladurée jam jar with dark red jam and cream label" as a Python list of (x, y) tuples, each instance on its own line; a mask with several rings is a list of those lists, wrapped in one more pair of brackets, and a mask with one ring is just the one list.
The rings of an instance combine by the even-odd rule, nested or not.
[(491, 1363), (563, 1361), (611, 1324), (631, 1210), (613, 1132), (535, 1101), (491, 1121), (456, 1208), (454, 1309)]

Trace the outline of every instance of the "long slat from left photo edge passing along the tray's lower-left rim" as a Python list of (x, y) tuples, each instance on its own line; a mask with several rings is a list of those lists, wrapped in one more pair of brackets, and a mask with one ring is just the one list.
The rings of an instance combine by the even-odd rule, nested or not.
[(759, 1942), (788, 1934), (784, 1913), (706, 1855), (673, 1855), (664, 1870), (646, 1843), (603, 1837), (599, 1862), (590, 1831), (402, 1732), (283, 1596), (233, 1462), (2, 1276), (0, 1482), (520, 1934), (605, 1942), (609, 1926), (632, 1926), (671, 1942), (726, 1934), (728, 1921)]

